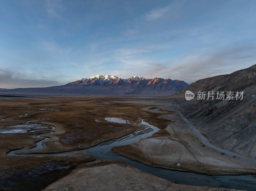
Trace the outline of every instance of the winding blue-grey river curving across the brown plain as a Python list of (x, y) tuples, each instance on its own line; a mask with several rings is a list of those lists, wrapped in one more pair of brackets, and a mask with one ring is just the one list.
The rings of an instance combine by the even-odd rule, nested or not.
[[(37, 135), (37, 137), (44, 137), (43, 140), (36, 143), (36, 147), (32, 149), (20, 149), (15, 151), (10, 151), (7, 155), (10, 156), (31, 156), (31, 155), (56, 155), (62, 153), (72, 153), (77, 151), (85, 151), (90, 154), (96, 159), (103, 158), (103, 159), (117, 159), (122, 160), (124, 162), (130, 163), (131, 165), (135, 166), (136, 168), (146, 171), (148, 173), (154, 174), (158, 177), (164, 178), (166, 180), (170, 180), (172, 182), (181, 183), (181, 184), (188, 184), (188, 185), (198, 185), (198, 186), (211, 186), (211, 187), (225, 187), (225, 188), (235, 188), (235, 189), (245, 189), (249, 191), (254, 191), (256, 187), (256, 175), (214, 175), (208, 176), (204, 174), (197, 174), (191, 173), (186, 171), (177, 171), (177, 170), (170, 170), (164, 169), (160, 167), (152, 167), (140, 162), (136, 162), (125, 158), (114, 151), (112, 151), (112, 147), (115, 146), (122, 146), (131, 143), (136, 143), (140, 141), (140, 139), (147, 138), (152, 136), (154, 133), (159, 131), (160, 129), (145, 122), (141, 121), (140, 125), (144, 126), (145, 129), (137, 130), (127, 136), (123, 136), (118, 139), (109, 140), (103, 143), (100, 143), (97, 146), (91, 147), (89, 149), (83, 150), (76, 150), (76, 151), (68, 151), (68, 152), (60, 152), (60, 153), (53, 153), (53, 154), (15, 154), (16, 151), (24, 151), (24, 150), (39, 150), (44, 148), (43, 141), (49, 139), (48, 137), (42, 136), (46, 133), (52, 133), (54, 131), (50, 131), (47, 129), (48, 132), (45, 132), (45, 129), (40, 129), (40, 131), (44, 131), (42, 134)], [(51, 126), (54, 129), (53, 126)], [(38, 130), (31, 130), (38, 131)]]

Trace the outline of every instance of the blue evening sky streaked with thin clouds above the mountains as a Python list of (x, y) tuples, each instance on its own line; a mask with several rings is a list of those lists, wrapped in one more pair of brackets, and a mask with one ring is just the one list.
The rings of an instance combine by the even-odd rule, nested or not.
[(256, 1), (2, 0), (0, 87), (184, 80), (256, 64)]

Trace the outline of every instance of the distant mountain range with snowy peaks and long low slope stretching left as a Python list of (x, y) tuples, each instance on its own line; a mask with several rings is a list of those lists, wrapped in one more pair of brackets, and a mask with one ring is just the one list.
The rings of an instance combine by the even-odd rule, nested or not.
[(1, 94), (15, 95), (79, 95), (79, 96), (169, 96), (185, 88), (181, 80), (133, 76), (127, 79), (111, 75), (80, 78), (65, 85), (45, 88), (16, 88)]

